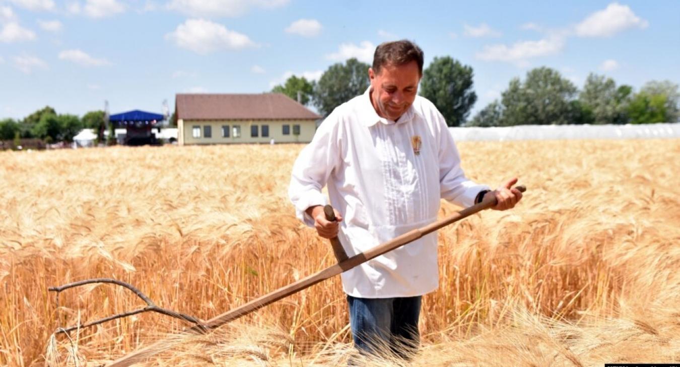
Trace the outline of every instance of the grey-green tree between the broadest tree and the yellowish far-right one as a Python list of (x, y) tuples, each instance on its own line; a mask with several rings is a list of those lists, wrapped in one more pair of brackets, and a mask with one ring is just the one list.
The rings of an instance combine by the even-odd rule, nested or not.
[(583, 111), (592, 115), (592, 122), (585, 123), (625, 123), (630, 102), (630, 87), (626, 87), (617, 88), (613, 79), (590, 73), (579, 94)]

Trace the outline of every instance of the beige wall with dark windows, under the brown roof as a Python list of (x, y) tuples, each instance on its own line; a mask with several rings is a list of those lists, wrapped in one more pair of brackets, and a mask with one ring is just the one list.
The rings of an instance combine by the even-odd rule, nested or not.
[[(181, 122), (180, 122), (181, 121)], [(190, 121), (180, 119), (177, 125), (182, 126), (177, 130), (180, 136), (179, 144), (238, 144), (238, 143), (262, 143), (269, 144), (271, 139), (274, 142), (311, 142), (311, 138), (316, 132), (316, 121), (314, 120), (254, 120), (254, 121)], [(222, 136), (222, 126), (228, 126), (229, 136)], [(251, 127), (257, 125), (258, 136), (251, 136)], [(262, 125), (269, 126), (269, 136), (262, 136)], [(283, 134), (284, 125), (288, 125), (288, 135)], [(300, 125), (300, 134), (295, 135), (294, 125)], [(194, 137), (194, 127), (198, 126), (200, 134)], [(211, 137), (205, 137), (205, 127), (209, 126)], [(240, 136), (235, 136), (234, 130), (238, 126), (240, 129)]]

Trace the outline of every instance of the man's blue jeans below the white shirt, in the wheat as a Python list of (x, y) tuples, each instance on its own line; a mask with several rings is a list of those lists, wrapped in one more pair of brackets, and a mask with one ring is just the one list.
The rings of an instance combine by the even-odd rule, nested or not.
[(422, 296), (358, 298), (347, 295), (354, 346), (361, 353), (408, 359), (418, 350)]

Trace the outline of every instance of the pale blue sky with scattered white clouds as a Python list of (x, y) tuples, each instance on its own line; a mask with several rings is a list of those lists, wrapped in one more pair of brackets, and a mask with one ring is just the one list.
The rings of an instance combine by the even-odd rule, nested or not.
[(410, 39), (425, 66), (472, 66), (477, 103), (549, 66), (639, 90), (680, 83), (680, 1), (0, 0), (0, 119), (49, 105), (163, 113), (176, 93), (261, 93), (318, 79), (384, 41)]

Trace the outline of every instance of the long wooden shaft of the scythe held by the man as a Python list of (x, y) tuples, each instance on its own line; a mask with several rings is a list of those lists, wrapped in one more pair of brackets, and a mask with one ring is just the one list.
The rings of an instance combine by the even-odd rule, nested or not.
[[(526, 187), (524, 187), (524, 185), (516, 186), (515, 188), (522, 193), (526, 191)], [(286, 298), (291, 294), (300, 292), (301, 290), (309, 288), (319, 282), (322, 282), (328, 279), (329, 277), (334, 277), (335, 275), (338, 275), (343, 271), (347, 271), (349, 269), (352, 269), (353, 267), (366, 263), (368, 260), (371, 260), (372, 258), (385, 254), (386, 252), (390, 252), (395, 248), (400, 248), (401, 246), (408, 244), (409, 242), (413, 242), (416, 239), (419, 239), (420, 237), (428, 233), (432, 233), (434, 231), (437, 231), (437, 229), (450, 225), (451, 223), (457, 222), (462, 218), (466, 218), (468, 216), (471, 216), (472, 214), (481, 212), (481, 210), (493, 208), (494, 206), (496, 206), (496, 204), (498, 204), (495, 196), (484, 195), (484, 197), (485, 199), (483, 199), (483, 201), (481, 201), (481, 203), (479, 204), (475, 204), (469, 208), (465, 208), (460, 212), (456, 212), (450, 216), (447, 216), (446, 218), (437, 220), (435, 223), (431, 223), (430, 225), (426, 225), (425, 227), (413, 229), (413, 231), (404, 233), (403, 235), (400, 235), (394, 239), (390, 239), (390, 241), (384, 242), (383, 244), (379, 244), (374, 248), (369, 248), (369, 250), (361, 252), (360, 254), (356, 254), (351, 258), (347, 258), (347, 260), (344, 260), (341, 263), (337, 263), (333, 266), (327, 267), (326, 269), (308, 275), (307, 277), (300, 279), (297, 282), (288, 284), (288, 286), (284, 286), (282, 288), (274, 290), (273, 292), (269, 292), (264, 296), (260, 296), (260, 298), (256, 298), (248, 303), (245, 303), (245, 305), (241, 305), (235, 309), (226, 311), (221, 315), (217, 315), (211, 318), (210, 320), (205, 321), (203, 325), (211, 329), (218, 328), (226, 324), (227, 322), (236, 320), (237, 318), (243, 315), (247, 315), (248, 313), (251, 313), (256, 309), (260, 309), (262, 307), (265, 307), (266, 305), (269, 305), (270, 303), (278, 301), (279, 299)], [(488, 197), (489, 199), (486, 199), (486, 197)], [(183, 330), (183, 332), (203, 333), (205, 331), (201, 330), (199, 326), (192, 326), (191, 328)], [(130, 366), (131, 364), (143, 362), (145, 360), (148, 360), (150, 356), (171, 348), (172, 345), (173, 345), (172, 342), (157, 341), (156, 343), (153, 343), (148, 347), (139, 349), (137, 351), (133, 351), (128, 355), (122, 356), (118, 360), (115, 360), (114, 362), (110, 363), (108, 367), (125, 367)]]

